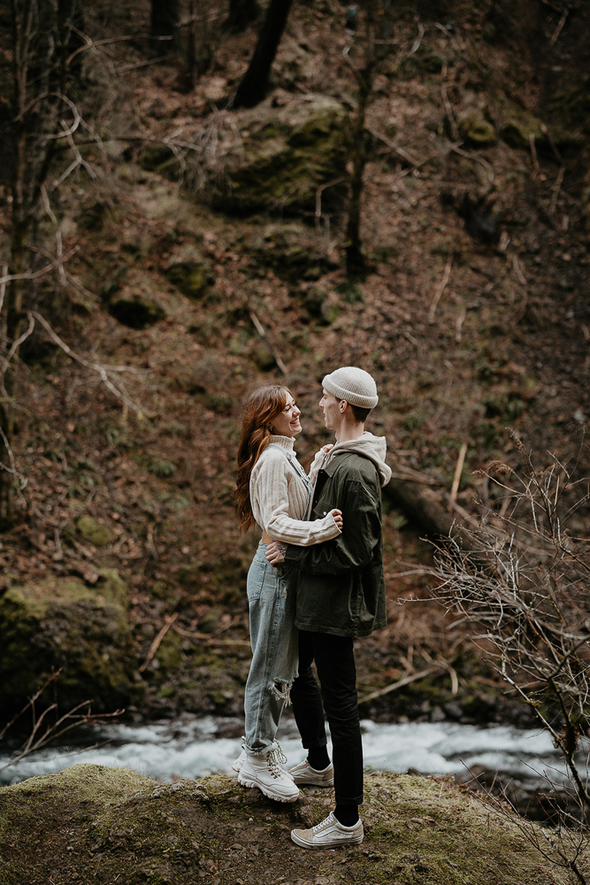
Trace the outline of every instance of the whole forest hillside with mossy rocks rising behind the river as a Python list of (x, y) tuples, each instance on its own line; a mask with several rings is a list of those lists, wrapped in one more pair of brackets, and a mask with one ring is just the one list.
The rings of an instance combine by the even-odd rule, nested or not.
[[(67, 65), (31, 61), (19, 114), (27, 48), (0, 13), (3, 702), (62, 667), (62, 708), (239, 715), (257, 543), (233, 504), (244, 399), (293, 391), (309, 466), (329, 441), (321, 380), (356, 365), (394, 471), (389, 625), (359, 644), (362, 712), (525, 722), (469, 627), (399, 600), (433, 586), (423, 539), (506, 512), (477, 472), (521, 470), (514, 435), (538, 469), (590, 466), (590, 9), (382, 4), (371, 48), (364, 4), (349, 33), (346, 4), (295, 0), (267, 96), (235, 109), (260, 5), (234, 33), (225, 4), (187, 4), (158, 42), (147, 0), (82, 4)], [(55, 137), (34, 130), (46, 96)], [(19, 165), (32, 143), (45, 166)]]

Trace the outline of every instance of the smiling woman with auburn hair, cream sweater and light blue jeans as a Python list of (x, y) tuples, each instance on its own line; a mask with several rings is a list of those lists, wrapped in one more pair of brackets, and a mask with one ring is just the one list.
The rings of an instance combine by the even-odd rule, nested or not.
[(273, 385), (249, 396), (235, 491), (241, 528), (257, 523), (263, 536), (248, 573), (252, 663), (244, 696), (244, 750), (234, 768), (242, 784), (258, 787), (280, 802), (295, 802), (299, 796), (293, 779), (280, 767), (280, 758), (287, 760), (275, 743), (280, 714), (297, 675), (297, 572), (271, 566), (266, 546), (274, 540), (305, 547), (329, 541), (342, 528), (339, 510), (304, 521), (311, 484), (293, 448), (302, 431), (300, 414), (287, 388)]

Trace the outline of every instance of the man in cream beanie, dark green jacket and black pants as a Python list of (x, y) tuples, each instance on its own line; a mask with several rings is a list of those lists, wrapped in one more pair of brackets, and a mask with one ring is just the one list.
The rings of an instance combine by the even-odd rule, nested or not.
[[(378, 403), (372, 376), (356, 366), (326, 375), (319, 407), (336, 443), (318, 456), (310, 519), (334, 507), (342, 532), (311, 547), (275, 542), (266, 558), (300, 569), (295, 624), (299, 627), (299, 673), (291, 689), (295, 721), (307, 758), (291, 774), (295, 784), (334, 786), (336, 807), (308, 830), (295, 829), (303, 848), (331, 848), (363, 841), (358, 805), (363, 802), (363, 744), (356, 699), (353, 642), (387, 622), (382, 561), (381, 490), (391, 478), (386, 441), (364, 430)], [(324, 704), (311, 671), (315, 660)], [(324, 708), (333, 745), (326, 750)]]

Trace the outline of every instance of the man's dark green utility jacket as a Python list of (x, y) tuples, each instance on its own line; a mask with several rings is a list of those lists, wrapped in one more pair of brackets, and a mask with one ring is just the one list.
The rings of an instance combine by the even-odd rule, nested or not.
[(299, 568), (295, 624), (300, 630), (368, 636), (387, 623), (381, 488), (370, 458), (342, 451), (320, 469), (310, 519), (338, 507), (341, 535), (311, 547), (287, 544), (286, 567)]

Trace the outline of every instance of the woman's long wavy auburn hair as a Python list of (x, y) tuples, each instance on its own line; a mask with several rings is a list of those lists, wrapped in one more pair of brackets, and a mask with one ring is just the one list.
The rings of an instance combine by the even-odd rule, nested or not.
[(250, 473), (268, 445), (272, 421), (285, 408), (287, 395), (291, 395), (291, 391), (280, 384), (258, 388), (250, 394), (244, 409), (234, 501), (240, 517), (240, 528), (245, 532), (256, 524), (250, 503)]

